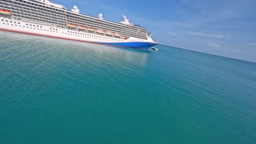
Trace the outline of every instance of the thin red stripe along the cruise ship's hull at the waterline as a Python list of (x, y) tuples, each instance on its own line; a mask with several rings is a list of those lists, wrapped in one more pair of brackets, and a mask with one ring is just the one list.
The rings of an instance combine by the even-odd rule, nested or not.
[[(107, 46), (139, 49), (139, 48), (135, 48), (135, 47), (108, 45), (108, 44), (101, 44), (101, 43), (92, 42), (92, 41), (86, 41), (86, 40), (69, 39), (69, 38), (57, 37), (57, 36), (52, 36), (52, 35), (44, 35), (44, 34), (39, 34), (39, 33), (30, 33), (30, 32), (24, 32), (24, 31), (16, 31), (16, 30), (13, 30), (13, 29), (0, 28), (0, 31), (13, 32), (13, 33), (21, 33), (21, 34), (29, 34), (29, 35), (37, 35), (37, 36), (41, 36), (41, 37), (56, 38), (56, 39), (73, 40), (73, 41), (80, 41), (80, 42), (91, 43), (91, 44), (100, 44), (100, 45), (107, 45)], [(142, 50), (147, 50), (147, 49), (142, 49)]]

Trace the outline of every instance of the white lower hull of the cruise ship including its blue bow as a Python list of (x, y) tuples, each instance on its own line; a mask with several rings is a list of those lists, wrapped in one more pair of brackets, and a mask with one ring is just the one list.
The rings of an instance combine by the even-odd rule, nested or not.
[(68, 27), (57, 27), (42, 22), (31, 20), (13, 20), (9, 17), (0, 17), (0, 31), (8, 31), (22, 34), (32, 34), (50, 38), (59, 38), (86, 43), (96, 43), (121, 47), (134, 47), (137, 49), (149, 49), (157, 43), (152, 43), (152, 39), (139, 39), (130, 37), (120, 39), (109, 35), (97, 34), (94, 32)]

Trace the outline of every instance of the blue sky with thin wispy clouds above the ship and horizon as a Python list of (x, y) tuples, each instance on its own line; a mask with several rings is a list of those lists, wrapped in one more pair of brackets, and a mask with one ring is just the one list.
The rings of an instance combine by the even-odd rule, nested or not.
[(125, 14), (160, 44), (256, 62), (255, 0), (51, 1), (115, 22)]

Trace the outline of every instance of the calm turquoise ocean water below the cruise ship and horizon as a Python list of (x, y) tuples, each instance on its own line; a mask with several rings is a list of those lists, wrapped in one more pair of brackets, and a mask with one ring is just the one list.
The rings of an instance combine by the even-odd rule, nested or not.
[(256, 143), (256, 64), (1, 32), (0, 143)]

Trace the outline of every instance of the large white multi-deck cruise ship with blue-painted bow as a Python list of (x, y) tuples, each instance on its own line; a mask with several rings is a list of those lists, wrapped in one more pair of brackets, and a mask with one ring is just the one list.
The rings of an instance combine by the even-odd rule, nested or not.
[(0, 0), (0, 31), (146, 50), (158, 44), (146, 28), (123, 19), (80, 14), (77, 6), (68, 10), (49, 0)]

